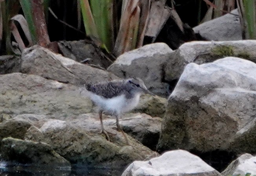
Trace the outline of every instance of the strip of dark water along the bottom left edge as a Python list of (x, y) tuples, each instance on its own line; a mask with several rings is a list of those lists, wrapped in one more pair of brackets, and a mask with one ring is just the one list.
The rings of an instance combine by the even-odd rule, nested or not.
[(0, 167), (0, 176), (121, 176), (123, 170), (106, 168), (72, 167), (50, 169), (31, 167)]

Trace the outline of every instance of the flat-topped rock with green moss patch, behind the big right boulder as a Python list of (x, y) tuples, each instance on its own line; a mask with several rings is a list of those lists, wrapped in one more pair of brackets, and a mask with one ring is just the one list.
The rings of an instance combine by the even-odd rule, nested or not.
[(165, 67), (165, 81), (178, 80), (185, 66), (191, 62), (204, 64), (226, 56), (236, 56), (256, 63), (256, 51), (252, 50), (254, 47), (255, 40), (185, 43), (170, 54), (170, 60)]

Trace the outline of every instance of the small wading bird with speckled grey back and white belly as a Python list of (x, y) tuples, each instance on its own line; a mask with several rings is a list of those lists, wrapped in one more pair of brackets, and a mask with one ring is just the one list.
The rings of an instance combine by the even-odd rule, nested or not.
[(147, 89), (141, 78), (84, 84), (80, 89), (80, 94), (90, 98), (97, 107), (99, 107), (101, 133), (105, 134), (107, 140), (110, 141), (110, 138), (103, 126), (102, 112), (108, 112), (115, 116), (117, 129), (122, 132), (127, 145), (129, 145), (128, 139), (119, 124), (121, 114), (135, 108), (139, 103), (141, 94), (151, 94), (155, 96), (155, 94)]

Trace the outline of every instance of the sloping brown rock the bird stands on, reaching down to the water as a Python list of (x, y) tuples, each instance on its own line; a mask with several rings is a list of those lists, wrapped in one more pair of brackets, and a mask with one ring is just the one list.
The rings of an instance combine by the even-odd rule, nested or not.
[[(24, 119), (26, 117), (31, 119), (31, 115), (23, 116)], [(127, 121), (127, 123), (134, 121), (133, 124), (135, 124), (135, 121), (143, 117), (145, 121), (150, 122), (149, 118), (151, 117), (137, 116), (134, 119), (131, 119), (131, 117), (122, 118), (120, 123), (122, 126), (125, 126), (123, 124), (124, 121)], [(16, 118), (21, 117), (17, 116)], [(30, 128), (25, 138), (27, 140), (38, 140), (48, 143), (58, 154), (72, 164), (88, 167), (124, 169), (133, 160), (144, 160), (150, 156), (155, 156), (155, 152), (143, 146), (129, 135), (127, 137), (130, 145), (126, 145), (124, 136), (116, 129), (115, 118), (105, 115), (103, 118), (104, 127), (110, 136), (111, 142), (107, 141), (104, 134), (100, 133), (101, 123), (99, 122), (98, 114), (82, 114), (81, 116), (67, 118), (66, 120), (48, 118), (45, 121), (45, 119), (42, 119), (44, 121), (43, 124), (34, 120), (32, 122), (37, 125), (38, 129)], [(153, 119), (152, 123), (158, 123), (158, 126), (155, 125), (155, 127), (157, 127), (159, 134), (161, 118)], [(108, 125), (109, 123), (111, 124)], [(145, 131), (145, 133), (155, 132), (154, 127), (150, 127), (148, 123), (144, 123), (147, 126), (145, 125), (141, 131)], [(137, 133), (139, 132), (137, 131)]]

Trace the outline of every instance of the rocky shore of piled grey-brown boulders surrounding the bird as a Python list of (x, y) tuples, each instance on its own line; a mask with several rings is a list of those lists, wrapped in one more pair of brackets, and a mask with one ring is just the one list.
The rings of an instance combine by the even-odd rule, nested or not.
[[(27, 48), (0, 74), (0, 167), (256, 175), (255, 47), (255, 40), (189, 42), (172, 51), (155, 43), (98, 66)], [(123, 114), (126, 145), (110, 115), (103, 116), (110, 141), (100, 133), (97, 107), (79, 88), (130, 77), (157, 96), (143, 95)]]

